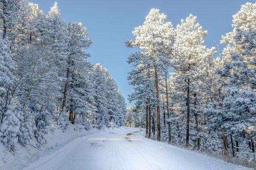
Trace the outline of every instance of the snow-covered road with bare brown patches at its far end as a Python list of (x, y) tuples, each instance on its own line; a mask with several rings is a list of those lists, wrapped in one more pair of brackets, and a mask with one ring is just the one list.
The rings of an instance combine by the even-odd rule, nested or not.
[(247, 170), (162, 142), (125, 127), (83, 136), (25, 170)]

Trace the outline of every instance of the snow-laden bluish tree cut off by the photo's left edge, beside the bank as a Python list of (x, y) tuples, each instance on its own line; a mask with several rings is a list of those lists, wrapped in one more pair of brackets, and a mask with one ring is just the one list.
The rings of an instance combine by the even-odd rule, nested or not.
[(22, 112), (18, 102), (12, 100), (15, 81), (12, 71), (15, 68), (7, 38), (0, 40), (0, 141), (8, 150), (14, 151), (21, 135)]

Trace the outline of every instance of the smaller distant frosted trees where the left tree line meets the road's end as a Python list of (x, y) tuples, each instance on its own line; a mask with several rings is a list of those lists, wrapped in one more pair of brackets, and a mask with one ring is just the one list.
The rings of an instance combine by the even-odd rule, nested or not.
[(92, 66), (93, 96), (95, 115), (92, 117), (96, 127), (124, 125), (126, 109), (124, 97), (121, 96), (116, 82), (109, 77), (106, 68), (100, 63)]

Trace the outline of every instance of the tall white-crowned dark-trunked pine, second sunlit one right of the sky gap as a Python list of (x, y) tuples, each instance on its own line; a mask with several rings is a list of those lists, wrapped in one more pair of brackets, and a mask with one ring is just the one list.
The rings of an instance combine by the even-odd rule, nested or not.
[[(204, 65), (207, 63), (207, 59), (212, 57), (215, 53), (215, 48), (206, 48), (203, 46), (203, 38), (207, 35), (207, 31), (203, 31), (202, 26), (196, 22), (197, 17), (189, 15), (186, 20), (181, 20), (181, 25), (177, 25), (176, 39), (174, 42), (174, 58), (172, 67), (176, 71), (175, 78), (178, 79), (182, 85), (177, 86), (181, 88), (183, 86), (183, 93), (186, 106), (186, 110), (182, 111), (186, 114), (186, 146), (189, 145), (190, 124), (191, 124), (191, 108), (195, 108), (191, 99), (192, 95), (197, 91), (197, 79), (200, 77), (200, 73)], [(193, 87), (194, 86), (194, 87)], [(195, 96), (194, 98), (195, 99)], [(195, 113), (197, 116), (197, 113)], [(197, 117), (195, 117), (197, 119)]]

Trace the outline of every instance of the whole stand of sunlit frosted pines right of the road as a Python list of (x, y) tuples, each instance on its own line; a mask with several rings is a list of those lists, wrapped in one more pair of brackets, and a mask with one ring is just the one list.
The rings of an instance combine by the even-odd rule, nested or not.
[(174, 27), (151, 9), (126, 42), (138, 48), (127, 59), (135, 105), (126, 125), (146, 128), (150, 139), (255, 162), (256, 3), (242, 5), (232, 23), (221, 52), (204, 45), (208, 32), (197, 17)]

